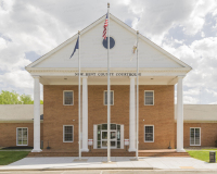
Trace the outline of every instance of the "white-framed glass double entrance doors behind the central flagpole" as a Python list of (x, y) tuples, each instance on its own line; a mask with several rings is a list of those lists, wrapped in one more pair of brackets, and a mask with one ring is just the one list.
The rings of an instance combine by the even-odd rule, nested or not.
[[(116, 149), (117, 148), (117, 134), (116, 130), (111, 130), (111, 148)], [(101, 148), (106, 149), (107, 148), (107, 130), (101, 130)]]

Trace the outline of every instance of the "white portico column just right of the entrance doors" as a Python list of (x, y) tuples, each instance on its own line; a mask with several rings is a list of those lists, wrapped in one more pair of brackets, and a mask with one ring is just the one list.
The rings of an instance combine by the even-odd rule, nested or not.
[(136, 151), (136, 96), (135, 96), (135, 79), (130, 78), (130, 98), (129, 98), (129, 149)]

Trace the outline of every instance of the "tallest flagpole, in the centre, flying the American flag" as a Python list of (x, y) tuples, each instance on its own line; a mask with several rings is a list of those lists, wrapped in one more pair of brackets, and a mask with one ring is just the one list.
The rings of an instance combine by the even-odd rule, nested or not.
[(110, 149), (110, 3), (107, 3), (107, 162), (111, 162)]

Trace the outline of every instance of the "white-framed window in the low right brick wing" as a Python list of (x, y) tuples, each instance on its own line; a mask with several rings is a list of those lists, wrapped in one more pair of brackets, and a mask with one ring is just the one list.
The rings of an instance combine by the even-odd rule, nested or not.
[(190, 146), (201, 146), (201, 127), (190, 128)]

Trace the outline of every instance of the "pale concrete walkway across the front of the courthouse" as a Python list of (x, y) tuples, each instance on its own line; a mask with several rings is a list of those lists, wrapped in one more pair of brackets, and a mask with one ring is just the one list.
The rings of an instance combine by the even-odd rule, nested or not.
[(37, 157), (24, 158), (12, 164), (0, 166), (0, 171), (9, 170), (217, 170), (217, 163), (207, 163), (193, 158), (178, 157), (142, 157), (133, 161), (130, 157)]

